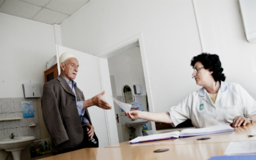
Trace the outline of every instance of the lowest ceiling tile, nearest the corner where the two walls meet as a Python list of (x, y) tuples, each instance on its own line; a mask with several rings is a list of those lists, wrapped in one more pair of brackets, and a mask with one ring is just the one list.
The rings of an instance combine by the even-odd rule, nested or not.
[(69, 16), (66, 14), (58, 13), (53, 10), (44, 8), (33, 18), (33, 20), (49, 24), (60, 24), (63, 20), (67, 19), (67, 17)]

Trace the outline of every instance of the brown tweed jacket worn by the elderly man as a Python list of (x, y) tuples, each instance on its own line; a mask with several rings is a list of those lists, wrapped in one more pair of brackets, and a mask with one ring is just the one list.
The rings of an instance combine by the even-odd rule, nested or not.
[[(78, 100), (83, 92), (75, 87)], [(62, 76), (44, 84), (42, 96), (44, 123), (51, 136), (51, 150), (61, 152), (77, 147), (84, 138), (75, 95)], [(88, 110), (84, 114), (91, 123)]]

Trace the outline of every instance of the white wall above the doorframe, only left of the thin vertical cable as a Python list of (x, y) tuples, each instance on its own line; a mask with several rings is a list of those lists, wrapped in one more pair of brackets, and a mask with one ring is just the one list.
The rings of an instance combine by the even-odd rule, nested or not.
[(198, 89), (192, 56), (202, 52), (191, 0), (91, 0), (61, 23), (62, 44), (95, 54), (142, 32), (152, 99), (166, 111)]

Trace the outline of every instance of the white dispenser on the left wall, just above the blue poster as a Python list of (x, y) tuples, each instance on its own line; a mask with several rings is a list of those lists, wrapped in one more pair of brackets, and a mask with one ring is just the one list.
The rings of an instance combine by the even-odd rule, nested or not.
[(24, 98), (41, 97), (40, 85), (37, 83), (23, 83)]

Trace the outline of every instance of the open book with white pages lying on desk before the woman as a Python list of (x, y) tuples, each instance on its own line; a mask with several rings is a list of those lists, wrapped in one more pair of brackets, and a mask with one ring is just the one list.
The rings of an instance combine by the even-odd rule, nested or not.
[(129, 143), (141, 143), (154, 140), (167, 140), (172, 138), (190, 137), (190, 136), (201, 136), (206, 134), (222, 133), (235, 131), (232, 127), (226, 124), (221, 124), (218, 126), (206, 127), (206, 128), (196, 128), (196, 129), (185, 129), (182, 131), (173, 131), (169, 133), (153, 134), (144, 137), (137, 137), (131, 140)]

